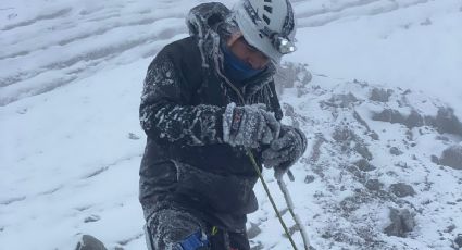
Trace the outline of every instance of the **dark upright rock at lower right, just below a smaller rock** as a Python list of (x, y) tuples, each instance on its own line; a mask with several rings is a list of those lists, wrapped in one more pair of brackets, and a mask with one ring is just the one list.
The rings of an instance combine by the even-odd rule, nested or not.
[(412, 232), (415, 227), (414, 216), (407, 209), (390, 209), (389, 217), (391, 224), (384, 230), (388, 236), (405, 238), (405, 234)]

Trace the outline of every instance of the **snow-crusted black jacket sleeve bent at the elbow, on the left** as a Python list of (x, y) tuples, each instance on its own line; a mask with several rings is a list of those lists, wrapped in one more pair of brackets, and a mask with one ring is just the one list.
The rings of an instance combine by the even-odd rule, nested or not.
[(224, 108), (190, 104), (196, 87), (186, 83), (182, 63), (168, 51), (162, 50), (148, 68), (139, 109), (141, 127), (159, 142), (222, 142)]

